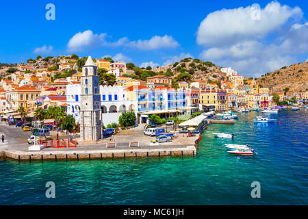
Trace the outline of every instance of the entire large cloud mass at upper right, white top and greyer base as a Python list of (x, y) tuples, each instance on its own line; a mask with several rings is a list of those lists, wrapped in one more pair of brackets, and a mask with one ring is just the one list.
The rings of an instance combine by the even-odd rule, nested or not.
[[(259, 77), (296, 62), (291, 53), (308, 51), (308, 23), (290, 25), (302, 18), (300, 8), (272, 1), (259, 9), (259, 19), (252, 19), (254, 9), (252, 5), (209, 14), (197, 32), (198, 44), (206, 48), (199, 56), (219, 66), (232, 66), (243, 75)], [(268, 38), (272, 33), (279, 37)]]

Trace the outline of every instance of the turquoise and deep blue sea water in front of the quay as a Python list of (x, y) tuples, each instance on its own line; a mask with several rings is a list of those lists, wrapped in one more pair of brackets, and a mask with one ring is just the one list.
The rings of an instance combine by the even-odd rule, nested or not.
[[(0, 159), (1, 205), (307, 205), (308, 110), (283, 110), (279, 123), (210, 125), (196, 157), (18, 162)], [(234, 133), (233, 140), (212, 132)], [(297, 138), (297, 139), (296, 139)], [(229, 155), (224, 143), (249, 144), (258, 155)], [(55, 183), (55, 198), (45, 184)], [(261, 198), (251, 197), (251, 183)]]

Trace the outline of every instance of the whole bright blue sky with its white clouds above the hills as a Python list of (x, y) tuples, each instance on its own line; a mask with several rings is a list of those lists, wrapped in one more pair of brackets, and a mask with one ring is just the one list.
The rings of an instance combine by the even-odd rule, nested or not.
[[(47, 21), (47, 3), (55, 21)], [(259, 4), (260, 9), (253, 8)], [(192, 56), (257, 77), (308, 58), (307, 1), (5, 1), (0, 62), (110, 55), (138, 66)], [(251, 12), (260, 12), (253, 19)]]

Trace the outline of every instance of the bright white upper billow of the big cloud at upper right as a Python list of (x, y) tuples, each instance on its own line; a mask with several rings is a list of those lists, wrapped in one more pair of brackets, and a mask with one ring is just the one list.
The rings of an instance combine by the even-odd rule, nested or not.
[(201, 22), (197, 42), (203, 46), (230, 45), (242, 40), (260, 39), (277, 30), (290, 18), (303, 16), (300, 8), (272, 1), (260, 9), (260, 19), (252, 18), (255, 8), (248, 6), (212, 12)]

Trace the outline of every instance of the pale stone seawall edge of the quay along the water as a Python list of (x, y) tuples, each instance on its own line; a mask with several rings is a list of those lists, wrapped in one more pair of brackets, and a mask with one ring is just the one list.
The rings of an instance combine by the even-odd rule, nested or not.
[(123, 159), (136, 157), (194, 156), (195, 146), (166, 149), (105, 149), (90, 151), (0, 151), (0, 157), (16, 160)]

